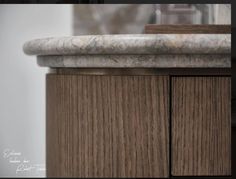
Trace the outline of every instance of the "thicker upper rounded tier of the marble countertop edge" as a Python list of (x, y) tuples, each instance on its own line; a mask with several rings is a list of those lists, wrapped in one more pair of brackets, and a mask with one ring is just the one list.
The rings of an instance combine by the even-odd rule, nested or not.
[(222, 54), (231, 53), (231, 34), (90, 35), (35, 39), (28, 55)]

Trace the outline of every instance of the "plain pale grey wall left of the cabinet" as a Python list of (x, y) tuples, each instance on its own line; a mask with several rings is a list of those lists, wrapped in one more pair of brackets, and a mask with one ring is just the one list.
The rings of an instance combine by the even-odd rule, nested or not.
[[(45, 68), (22, 51), (25, 41), (72, 32), (71, 5), (0, 5), (0, 177), (45, 176)], [(17, 158), (37, 169), (17, 172)], [(43, 166), (44, 165), (44, 166)], [(25, 166), (27, 167), (27, 166)]]

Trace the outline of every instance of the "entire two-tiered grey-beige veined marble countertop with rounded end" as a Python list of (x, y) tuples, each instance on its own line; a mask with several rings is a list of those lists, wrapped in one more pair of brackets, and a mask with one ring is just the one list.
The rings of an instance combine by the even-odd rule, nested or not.
[(91, 35), (28, 41), (40, 66), (105, 68), (231, 67), (230, 34)]

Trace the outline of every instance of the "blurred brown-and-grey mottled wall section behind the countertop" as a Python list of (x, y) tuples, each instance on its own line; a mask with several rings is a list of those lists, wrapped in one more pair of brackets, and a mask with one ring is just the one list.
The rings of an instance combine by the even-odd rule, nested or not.
[(134, 4), (75, 5), (74, 34), (142, 33), (155, 6)]

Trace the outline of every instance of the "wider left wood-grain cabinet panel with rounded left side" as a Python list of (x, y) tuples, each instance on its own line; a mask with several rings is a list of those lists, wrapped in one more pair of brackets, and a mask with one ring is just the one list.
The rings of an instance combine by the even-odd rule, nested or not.
[(168, 76), (46, 83), (48, 177), (168, 177)]

